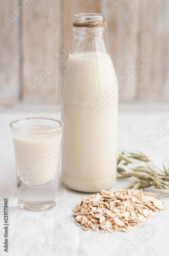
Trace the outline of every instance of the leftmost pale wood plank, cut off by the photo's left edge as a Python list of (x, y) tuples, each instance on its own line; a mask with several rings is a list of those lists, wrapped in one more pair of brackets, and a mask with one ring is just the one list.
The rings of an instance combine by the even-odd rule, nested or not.
[(18, 0), (0, 1), (0, 102), (19, 99)]

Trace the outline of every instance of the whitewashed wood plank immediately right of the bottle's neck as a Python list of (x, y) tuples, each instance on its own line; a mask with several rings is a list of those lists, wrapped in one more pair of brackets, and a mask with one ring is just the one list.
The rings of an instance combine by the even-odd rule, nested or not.
[(102, 0), (101, 11), (108, 23), (106, 41), (118, 76), (119, 99), (135, 100), (139, 26), (142, 8), (139, 0)]

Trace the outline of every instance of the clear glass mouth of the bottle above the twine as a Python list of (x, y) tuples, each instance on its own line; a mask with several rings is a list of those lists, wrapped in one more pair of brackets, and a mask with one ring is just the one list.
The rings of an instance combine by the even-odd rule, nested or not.
[(105, 16), (101, 13), (79, 13), (74, 15), (74, 23), (100, 24), (105, 22)]

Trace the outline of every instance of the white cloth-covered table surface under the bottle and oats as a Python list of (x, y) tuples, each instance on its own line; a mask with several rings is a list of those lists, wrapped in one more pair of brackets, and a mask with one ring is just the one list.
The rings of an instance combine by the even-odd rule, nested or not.
[[(10, 256), (166, 256), (169, 254), (169, 208), (159, 212), (156, 217), (146, 222), (145, 227), (132, 227), (129, 233), (100, 233), (84, 231), (76, 226), (72, 209), (80, 204), (85, 193), (76, 193), (60, 184), (57, 207), (44, 211), (32, 212), (19, 209), (16, 195), (10, 192), (16, 187), (15, 159), (9, 122), (15, 118), (30, 115), (60, 117), (57, 111), (0, 113), (0, 255)], [(159, 131), (161, 121), (169, 120), (167, 112), (129, 112), (119, 113), (118, 148), (135, 152), (144, 148), (145, 153), (159, 167), (162, 161), (169, 166), (169, 131), (151, 148), (145, 139)], [(113, 189), (123, 189), (129, 181), (117, 181)], [(155, 191), (154, 188), (145, 191)], [(3, 251), (3, 200), (9, 199), (9, 252)], [(165, 205), (169, 197), (163, 196)]]

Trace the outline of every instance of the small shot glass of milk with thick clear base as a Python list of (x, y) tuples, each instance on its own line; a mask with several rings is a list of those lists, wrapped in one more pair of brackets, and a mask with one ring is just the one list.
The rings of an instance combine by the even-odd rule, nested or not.
[(10, 123), (16, 163), (18, 205), (47, 210), (58, 202), (64, 123), (51, 117), (23, 117)]

